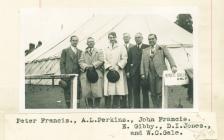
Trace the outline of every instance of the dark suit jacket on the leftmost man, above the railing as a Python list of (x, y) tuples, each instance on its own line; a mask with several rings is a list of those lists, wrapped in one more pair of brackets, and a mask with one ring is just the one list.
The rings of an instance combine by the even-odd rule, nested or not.
[(60, 59), (61, 74), (79, 74), (80, 66), (78, 61), (81, 53), (82, 51), (78, 48), (76, 54), (72, 51), (71, 47), (62, 50)]

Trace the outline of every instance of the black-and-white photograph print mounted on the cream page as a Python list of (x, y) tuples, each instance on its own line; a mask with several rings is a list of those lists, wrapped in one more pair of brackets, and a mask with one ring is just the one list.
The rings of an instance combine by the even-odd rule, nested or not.
[(153, 8), (21, 12), (24, 109), (194, 109), (195, 18)]

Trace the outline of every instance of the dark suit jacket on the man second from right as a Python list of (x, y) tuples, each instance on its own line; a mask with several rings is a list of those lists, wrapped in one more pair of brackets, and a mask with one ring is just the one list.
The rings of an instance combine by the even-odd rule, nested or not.
[(129, 49), (127, 71), (130, 73), (130, 77), (140, 75), (142, 50), (148, 47), (149, 45), (142, 44), (141, 49), (139, 49), (137, 45), (134, 45)]

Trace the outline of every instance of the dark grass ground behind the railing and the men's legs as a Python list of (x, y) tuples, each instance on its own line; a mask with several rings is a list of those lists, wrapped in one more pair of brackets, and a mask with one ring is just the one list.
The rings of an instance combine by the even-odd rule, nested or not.
[[(51, 85), (26, 85), (25, 106), (32, 109), (63, 109), (65, 104), (63, 89)], [(142, 101), (142, 96), (141, 96)], [(149, 96), (150, 107), (153, 107), (152, 99)], [(192, 103), (187, 100), (187, 89), (182, 86), (169, 88), (168, 107), (177, 108), (181, 103), (183, 108), (192, 108)], [(104, 108), (104, 99), (101, 100), (101, 108)], [(142, 105), (141, 105), (142, 106)], [(84, 100), (80, 101), (80, 108), (86, 108)]]

